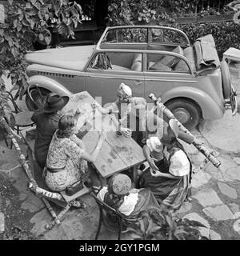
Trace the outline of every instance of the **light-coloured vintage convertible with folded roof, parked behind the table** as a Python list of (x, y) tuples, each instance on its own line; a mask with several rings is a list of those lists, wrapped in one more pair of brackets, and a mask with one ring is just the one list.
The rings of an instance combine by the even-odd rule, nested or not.
[(219, 61), (210, 34), (191, 46), (186, 34), (166, 26), (107, 27), (96, 46), (39, 50), (26, 61), (30, 110), (38, 102), (35, 86), (42, 96), (87, 90), (103, 106), (115, 100), (121, 82), (148, 102), (150, 93), (160, 97), (187, 128), (238, 107), (228, 65)]

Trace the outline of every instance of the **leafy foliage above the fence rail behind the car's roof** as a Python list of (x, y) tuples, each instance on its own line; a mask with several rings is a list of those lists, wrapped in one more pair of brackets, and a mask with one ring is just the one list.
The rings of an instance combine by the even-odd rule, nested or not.
[(226, 1), (219, 0), (126, 0), (124, 4), (121, 2), (123, 1), (110, 0), (110, 25), (126, 25), (133, 21), (150, 23), (159, 19), (174, 22), (174, 18), (193, 16), (196, 13), (204, 16), (230, 11), (224, 6)]

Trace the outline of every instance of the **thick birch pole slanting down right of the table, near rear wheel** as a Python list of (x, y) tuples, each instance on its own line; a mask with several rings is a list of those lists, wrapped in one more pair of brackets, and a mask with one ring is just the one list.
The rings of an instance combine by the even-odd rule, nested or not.
[[(166, 114), (168, 118), (170, 119), (173, 118), (178, 122), (178, 127), (180, 130), (182, 130), (186, 134), (190, 134), (191, 136), (194, 136), (193, 134), (190, 133), (189, 130), (186, 129), (186, 127), (182, 126), (182, 123), (179, 122), (177, 118), (175, 118), (174, 114), (166, 106), (164, 106), (162, 102), (160, 102), (160, 98), (157, 98), (154, 94), (150, 94), (149, 98), (152, 99), (157, 104), (159, 109), (162, 110), (162, 112)], [(192, 144), (198, 149), (198, 151), (204, 154), (206, 158), (208, 158), (215, 167), (218, 168), (221, 165), (221, 162), (218, 160), (218, 158), (215, 158), (214, 154), (210, 152), (210, 150), (208, 150), (206, 146), (198, 145), (195, 142), (193, 142)]]

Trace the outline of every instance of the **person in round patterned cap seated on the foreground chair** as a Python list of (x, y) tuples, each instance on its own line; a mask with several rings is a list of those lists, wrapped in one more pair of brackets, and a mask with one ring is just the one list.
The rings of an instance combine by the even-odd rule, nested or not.
[(142, 210), (160, 210), (154, 194), (150, 190), (135, 189), (126, 174), (115, 174), (98, 193), (98, 198), (115, 210), (130, 218), (138, 217)]

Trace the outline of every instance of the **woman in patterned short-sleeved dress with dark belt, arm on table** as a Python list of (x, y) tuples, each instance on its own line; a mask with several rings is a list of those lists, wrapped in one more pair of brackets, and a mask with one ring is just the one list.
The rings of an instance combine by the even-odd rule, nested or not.
[(78, 133), (73, 115), (66, 114), (59, 119), (58, 130), (54, 133), (46, 158), (44, 178), (50, 190), (62, 191), (76, 182), (86, 182), (89, 177), (93, 190), (100, 189), (98, 176), (87, 162), (94, 162), (106, 138), (102, 133), (91, 154), (75, 134)]

